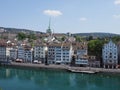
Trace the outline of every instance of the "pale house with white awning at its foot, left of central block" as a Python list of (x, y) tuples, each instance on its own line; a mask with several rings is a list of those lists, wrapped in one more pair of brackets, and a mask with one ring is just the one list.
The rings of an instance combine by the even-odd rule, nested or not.
[(34, 47), (34, 60), (38, 60), (38, 61), (41, 61), (42, 63), (44, 63), (45, 48), (46, 48), (45, 44), (35, 45), (35, 47)]

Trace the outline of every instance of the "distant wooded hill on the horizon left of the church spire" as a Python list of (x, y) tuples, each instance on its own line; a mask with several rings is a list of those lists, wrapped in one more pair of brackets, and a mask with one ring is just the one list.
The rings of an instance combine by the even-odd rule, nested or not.
[(43, 32), (40, 32), (40, 31), (33, 31), (33, 30), (28, 30), (28, 29), (6, 28), (6, 27), (0, 27), (0, 32), (10, 32), (10, 33), (19, 33), (19, 32), (24, 32), (24, 33), (43, 33)]

